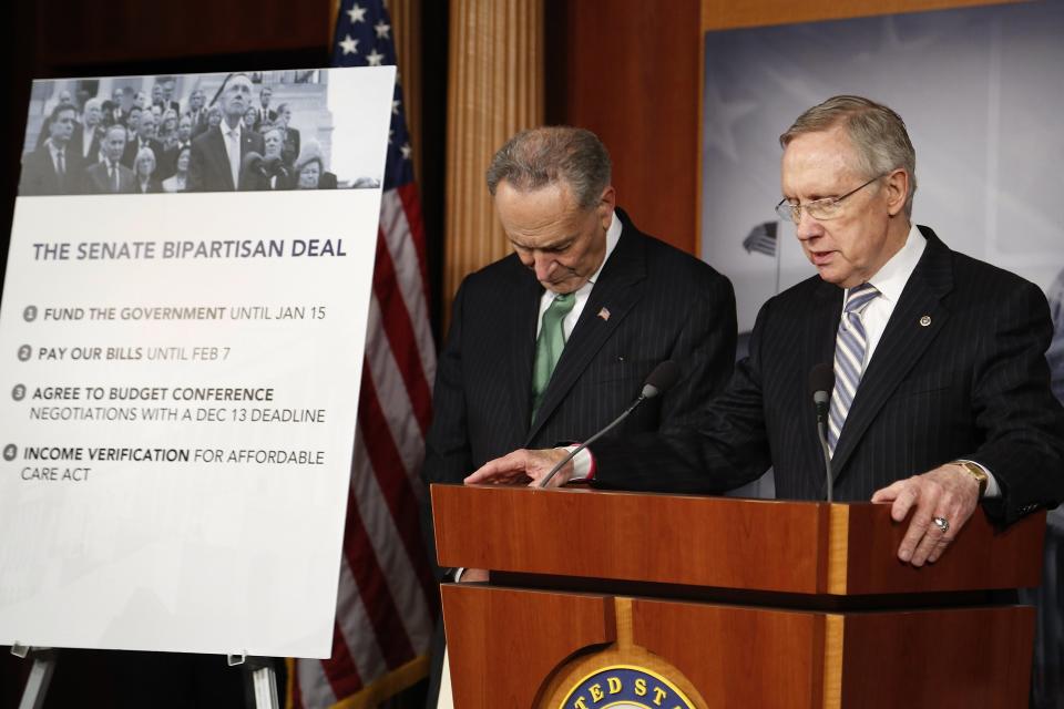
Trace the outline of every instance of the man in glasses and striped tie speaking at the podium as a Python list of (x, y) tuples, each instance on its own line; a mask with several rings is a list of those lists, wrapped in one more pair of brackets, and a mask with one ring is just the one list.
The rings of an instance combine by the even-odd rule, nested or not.
[[(1041, 290), (911, 225), (915, 154), (890, 109), (836, 96), (780, 143), (777, 209), (819, 276), (765, 304), (750, 356), (697, 424), (596, 445), (595, 483), (720, 492), (771, 465), (780, 497), (823, 499), (806, 382), (825, 363), (835, 497), (890, 502), (898, 522), (911, 512), (900, 559), (938, 559), (980, 500), (1003, 523), (1056, 505), (1064, 410)], [(536, 480), (560, 459), (518, 451), (469, 482)]]

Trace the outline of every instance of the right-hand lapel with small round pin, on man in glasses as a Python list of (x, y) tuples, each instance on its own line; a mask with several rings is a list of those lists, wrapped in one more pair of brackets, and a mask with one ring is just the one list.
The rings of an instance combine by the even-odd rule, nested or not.
[[(942, 305), (942, 297), (953, 288), (952, 257), (934, 232), (927, 227), (920, 227), (920, 230), (928, 239), (927, 248), (909, 277), (868, 369), (861, 377), (831, 459), (836, 479), (845, 470), (858, 441), (887, 399), (949, 319), (950, 312)], [(930, 321), (924, 316), (930, 318)]]

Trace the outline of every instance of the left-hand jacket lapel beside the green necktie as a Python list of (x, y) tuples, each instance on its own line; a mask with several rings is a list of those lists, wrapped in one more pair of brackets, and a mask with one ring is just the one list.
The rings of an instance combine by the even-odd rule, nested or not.
[(532, 360), (535, 357), (535, 328), (540, 315), (540, 298), (543, 287), (524, 266), (513, 257), (519, 273), (514, 279), (516, 292), (510, 301), (510, 332), (507, 341), (510, 342), (509, 360), (513, 367), (510, 377), (509, 407), (516, 418), (514, 431), (528, 431), (532, 415)]

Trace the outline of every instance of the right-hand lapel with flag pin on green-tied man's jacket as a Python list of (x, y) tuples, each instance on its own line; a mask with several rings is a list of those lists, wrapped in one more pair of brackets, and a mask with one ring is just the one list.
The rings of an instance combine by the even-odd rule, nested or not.
[[(551, 376), (551, 383), (543, 394), (543, 403), (540, 404), (539, 415), (529, 431), (525, 443), (535, 438), (554, 410), (565, 400), (580, 376), (591, 364), (595, 353), (642, 297), (642, 281), (646, 278), (646, 257), (640, 236), (631, 222), (625, 219), (621, 239), (598, 275), (598, 280), (580, 314), (580, 320), (573, 328), (565, 349), (562, 350), (562, 358)], [(598, 314), (603, 308), (608, 310), (607, 317), (600, 317)]]

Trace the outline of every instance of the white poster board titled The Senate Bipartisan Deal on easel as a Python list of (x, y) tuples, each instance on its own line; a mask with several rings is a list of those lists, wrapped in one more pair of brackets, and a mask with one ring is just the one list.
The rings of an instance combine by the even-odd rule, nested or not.
[(274, 74), (254, 101), (273, 82), (341, 188), (17, 201), (0, 644), (330, 654), (395, 69)]

